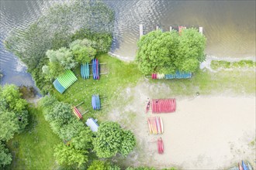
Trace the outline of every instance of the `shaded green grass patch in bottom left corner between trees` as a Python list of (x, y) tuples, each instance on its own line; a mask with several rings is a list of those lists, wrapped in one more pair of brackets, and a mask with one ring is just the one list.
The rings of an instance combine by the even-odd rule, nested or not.
[(12, 164), (7, 169), (53, 169), (54, 145), (61, 142), (44, 120), (40, 108), (29, 107), (29, 125), (22, 134), (7, 144), (12, 152)]

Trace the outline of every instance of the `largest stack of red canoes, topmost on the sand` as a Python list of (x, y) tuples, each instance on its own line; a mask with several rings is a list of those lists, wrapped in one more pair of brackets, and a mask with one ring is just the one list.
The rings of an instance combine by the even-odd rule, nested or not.
[(172, 113), (176, 110), (176, 100), (175, 99), (153, 99), (152, 100), (152, 113)]

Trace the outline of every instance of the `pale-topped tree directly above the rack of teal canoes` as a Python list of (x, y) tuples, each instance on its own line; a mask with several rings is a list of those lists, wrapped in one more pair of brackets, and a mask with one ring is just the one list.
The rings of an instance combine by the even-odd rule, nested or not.
[(77, 39), (71, 43), (70, 49), (78, 63), (90, 63), (96, 55), (96, 49), (92, 48), (92, 42), (88, 39)]

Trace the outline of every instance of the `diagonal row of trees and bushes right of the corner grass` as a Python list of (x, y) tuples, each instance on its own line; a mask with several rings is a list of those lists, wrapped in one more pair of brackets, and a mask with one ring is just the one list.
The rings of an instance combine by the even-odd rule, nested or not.
[(74, 117), (71, 105), (59, 102), (55, 97), (43, 97), (40, 101), (43, 114), (50, 127), (66, 145), (57, 145), (54, 156), (62, 166), (81, 166), (88, 162), (88, 150), (92, 148), (92, 131)]

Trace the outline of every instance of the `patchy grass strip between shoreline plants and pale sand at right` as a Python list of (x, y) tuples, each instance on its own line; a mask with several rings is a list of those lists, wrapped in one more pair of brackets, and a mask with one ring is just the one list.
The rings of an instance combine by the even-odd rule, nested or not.
[(197, 92), (203, 95), (222, 93), (252, 95), (256, 88), (254, 70), (223, 70), (217, 73), (199, 70), (191, 79), (150, 80), (150, 82), (168, 84), (172, 96), (192, 96)]

